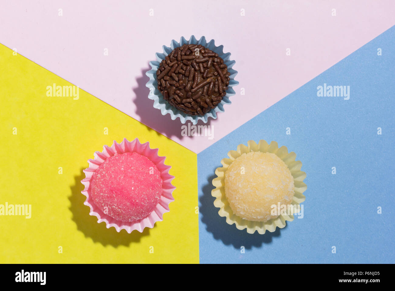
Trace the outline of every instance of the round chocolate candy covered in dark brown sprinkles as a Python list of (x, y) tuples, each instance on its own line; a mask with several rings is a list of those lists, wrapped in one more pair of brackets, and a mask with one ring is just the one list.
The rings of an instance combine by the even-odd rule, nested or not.
[(218, 53), (201, 44), (173, 49), (156, 71), (164, 99), (190, 115), (204, 115), (217, 107), (228, 90), (229, 76)]

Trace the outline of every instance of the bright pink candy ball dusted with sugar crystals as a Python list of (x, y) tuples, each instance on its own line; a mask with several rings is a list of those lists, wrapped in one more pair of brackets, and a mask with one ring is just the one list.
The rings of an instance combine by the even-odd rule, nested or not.
[(115, 154), (96, 169), (91, 180), (94, 204), (107, 215), (132, 222), (147, 217), (162, 195), (160, 171), (136, 152)]

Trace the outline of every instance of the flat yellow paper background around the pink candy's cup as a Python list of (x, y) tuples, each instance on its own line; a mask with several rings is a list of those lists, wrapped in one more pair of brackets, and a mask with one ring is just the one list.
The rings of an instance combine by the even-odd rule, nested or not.
[[(32, 205), (30, 219), (0, 216), (0, 263), (198, 263), (196, 154), (82, 89), (47, 97), (53, 83), (71, 85), (0, 45), (0, 204)], [(159, 148), (175, 176), (170, 212), (143, 233), (107, 229), (83, 205), (87, 160), (124, 137)]]

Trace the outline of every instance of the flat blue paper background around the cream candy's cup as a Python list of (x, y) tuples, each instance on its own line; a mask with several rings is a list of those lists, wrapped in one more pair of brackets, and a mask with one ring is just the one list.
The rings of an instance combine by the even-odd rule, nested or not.
[[(324, 83), (350, 86), (350, 99), (317, 97)], [(394, 102), (392, 27), (198, 154), (200, 262), (395, 263)], [(264, 235), (227, 224), (211, 196), (222, 158), (251, 139), (287, 146), (307, 173), (304, 218)]]

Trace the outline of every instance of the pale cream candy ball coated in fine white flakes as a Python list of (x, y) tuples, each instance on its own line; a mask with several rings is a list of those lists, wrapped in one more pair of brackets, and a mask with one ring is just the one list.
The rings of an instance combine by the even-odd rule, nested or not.
[(269, 152), (248, 152), (236, 158), (225, 172), (225, 194), (237, 216), (268, 221), (272, 205), (291, 204), (295, 186), (287, 165)]

